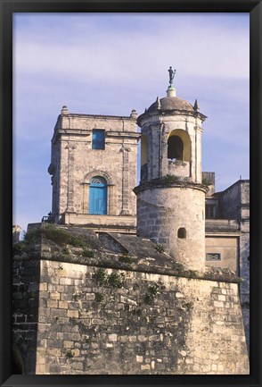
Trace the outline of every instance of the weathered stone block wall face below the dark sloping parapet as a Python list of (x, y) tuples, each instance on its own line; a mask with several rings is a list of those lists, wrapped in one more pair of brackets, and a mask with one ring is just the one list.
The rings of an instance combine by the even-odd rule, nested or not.
[[(31, 262), (20, 261), (16, 283), (24, 282), (21, 273)], [(101, 269), (69, 259), (62, 262), (62, 270), (70, 285), (61, 285), (53, 283), (60, 265), (54, 259), (36, 261), (43, 289), (37, 290), (37, 299), (42, 307), (30, 309), (28, 299), (24, 309), (21, 304), (14, 308), (14, 341), (28, 373), (249, 373), (237, 283), (127, 267)], [(83, 275), (76, 277), (75, 273)], [(109, 278), (111, 282), (105, 281)], [(42, 304), (46, 289), (53, 299)], [(35, 316), (33, 331), (26, 315)], [(228, 324), (231, 320), (233, 324)], [(31, 346), (37, 347), (35, 360), (30, 358), (30, 341), (25, 341), (29, 332)]]

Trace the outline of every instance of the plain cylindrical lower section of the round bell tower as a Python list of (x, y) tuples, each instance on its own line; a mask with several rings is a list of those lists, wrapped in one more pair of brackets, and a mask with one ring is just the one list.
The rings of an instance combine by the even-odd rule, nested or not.
[[(192, 270), (204, 270), (205, 191), (175, 184), (156, 184), (139, 189), (137, 195), (138, 235), (163, 245), (169, 255)], [(140, 223), (141, 219), (144, 223)], [(182, 226), (186, 231), (183, 239), (177, 237)]]

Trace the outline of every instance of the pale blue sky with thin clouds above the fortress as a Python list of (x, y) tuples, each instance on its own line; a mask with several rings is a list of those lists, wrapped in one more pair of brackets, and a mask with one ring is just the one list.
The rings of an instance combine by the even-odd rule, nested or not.
[(202, 171), (216, 190), (250, 178), (249, 13), (15, 13), (13, 224), (51, 211), (53, 127), (70, 113), (129, 115), (166, 97), (198, 99)]

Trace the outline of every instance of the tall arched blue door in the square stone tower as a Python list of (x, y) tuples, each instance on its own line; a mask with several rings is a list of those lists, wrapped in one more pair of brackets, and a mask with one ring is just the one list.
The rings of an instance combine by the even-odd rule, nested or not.
[(101, 176), (94, 176), (90, 182), (89, 214), (107, 214), (107, 182)]

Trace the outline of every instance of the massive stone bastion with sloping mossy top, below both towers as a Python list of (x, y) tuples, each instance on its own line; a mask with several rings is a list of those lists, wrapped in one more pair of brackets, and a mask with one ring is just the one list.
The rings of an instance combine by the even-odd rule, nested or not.
[(137, 237), (98, 240), (79, 229), (77, 248), (46, 235), (20, 242), (13, 260), (25, 373), (249, 374), (233, 273), (188, 271)]

